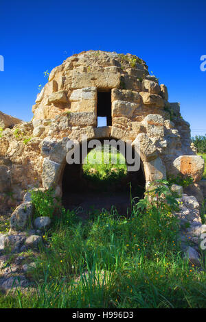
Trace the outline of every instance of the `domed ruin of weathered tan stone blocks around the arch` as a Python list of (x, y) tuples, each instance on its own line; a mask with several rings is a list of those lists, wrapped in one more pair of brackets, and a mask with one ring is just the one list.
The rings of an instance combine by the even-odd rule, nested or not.
[[(82, 134), (139, 140), (146, 184), (178, 173), (198, 182), (203, 175), (203, 158), (191, 147), (179, 103), (168, 102), (167, 87), (135, 55), (72, 55), (49, 74), (32, 111), (32, 121), (1, 132), (3, 205), (22, 201), (25, 190), (35, 186), (55, 186), (61, 195), (67, 141)], [(98, 127), (103, 116), (106, 126)]]

